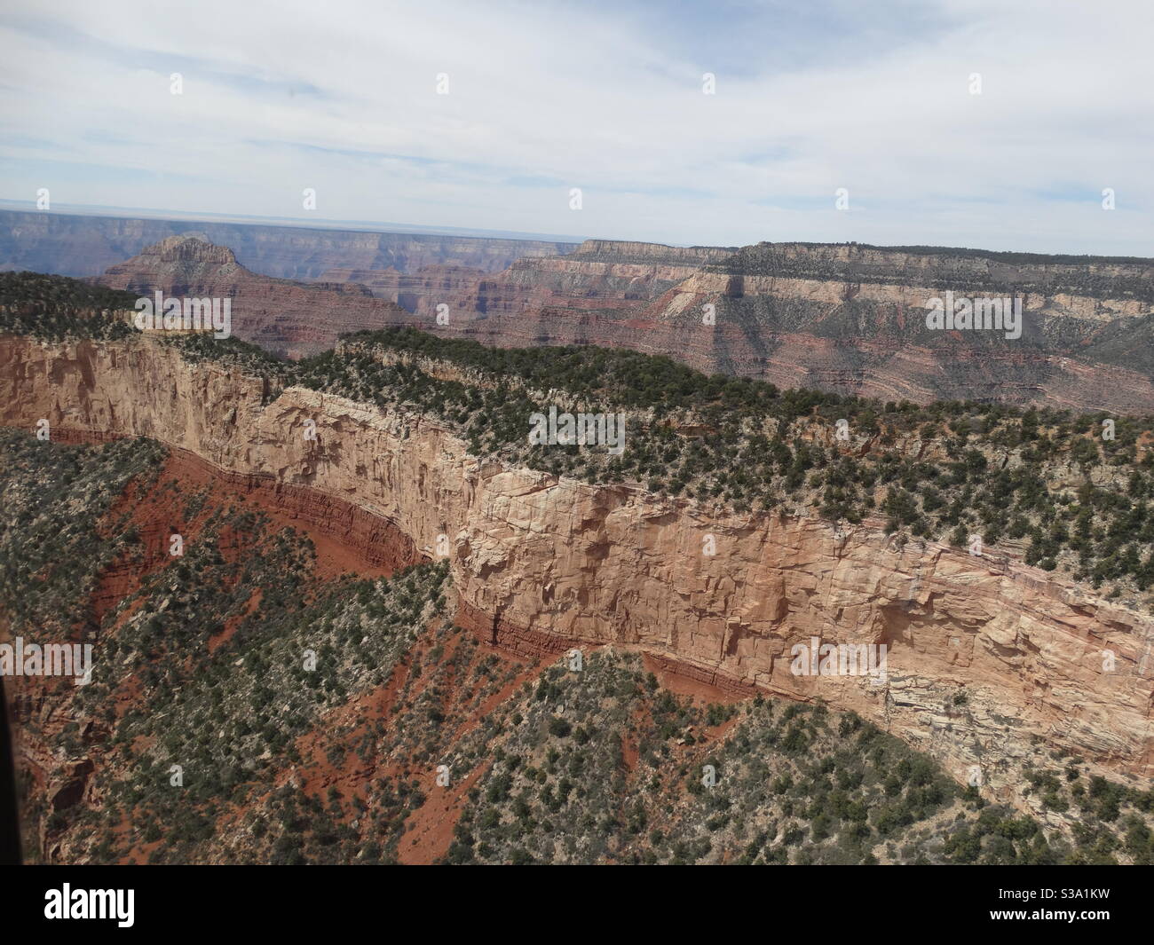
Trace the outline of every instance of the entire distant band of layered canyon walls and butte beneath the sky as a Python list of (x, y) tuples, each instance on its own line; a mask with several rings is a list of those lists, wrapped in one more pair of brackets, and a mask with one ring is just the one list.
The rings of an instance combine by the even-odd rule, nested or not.
[[(113, 255), (92, 278), (141, 294), (230, 297), (235, 335), (287, 358), (332, 347), (343, 332), (411, 325), (497, 347), (625, 347), (881, 400), (1154, 405), (1151, 260), (854, 243), (575, 246), (0, 211), (0, 269), (89, 272), (96, 263), (77, 260)], [(1021, 323), (932, 330), (935, 298), (1009, 300)]]

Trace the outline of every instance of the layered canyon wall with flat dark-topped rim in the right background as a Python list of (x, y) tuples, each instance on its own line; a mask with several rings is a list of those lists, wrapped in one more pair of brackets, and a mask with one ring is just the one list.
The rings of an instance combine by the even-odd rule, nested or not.
[[(706, 374), (883, 400), (1149, 411), (1154, 264), (1013, 260), (971, 250), (586, 240), (568, 255), (520, 260), (499, 273), (331, 275), (364, 282), (425, 318), (429, 331), (494, 346), (627, 347)], [(946, 291), (1016, 299), (1020, 337), (927, 328), (927, 300)], [(448, 323), (435, 324), (442, 303)]]

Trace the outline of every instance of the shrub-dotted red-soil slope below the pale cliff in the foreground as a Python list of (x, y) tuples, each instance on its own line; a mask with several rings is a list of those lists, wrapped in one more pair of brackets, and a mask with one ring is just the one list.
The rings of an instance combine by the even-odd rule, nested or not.
[[(1154, 792), (1080, 758), (1024, 771), (1043, 828), (853, 713), (695, 704), (613, 650), (535, 668), (447, 618), (443, 562), (320, 579), (307, 538), (164, 456), (0, 436), (0, 616), (96, 646), (88, 685), (16, 692), (47, 783), (99, 758), (88, 800), (25, 777), (32, 858), (396, 862), (449, 818), (448, 863), (1154, 862)], [(170, 492), (177, 558), (115, 502)]]

